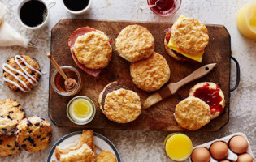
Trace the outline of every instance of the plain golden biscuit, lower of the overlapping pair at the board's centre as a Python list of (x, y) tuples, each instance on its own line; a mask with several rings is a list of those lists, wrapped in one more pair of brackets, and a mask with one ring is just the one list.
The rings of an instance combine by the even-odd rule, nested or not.
[(170, 73), (166, 59), (159, 53), (153, 53), (150, 58), (130, 65), (133, 83), (147, 92), (159, 90), (170, 79)]

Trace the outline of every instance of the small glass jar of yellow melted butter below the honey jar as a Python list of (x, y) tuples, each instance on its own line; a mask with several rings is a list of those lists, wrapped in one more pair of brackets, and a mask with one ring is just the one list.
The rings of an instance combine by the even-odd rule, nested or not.
[[(75, 104), (75, 102), (77, 100), (80, 101), (84, 101), (85, 103), (89, 104), (89, 109), (90, 109), (90, 113), (88, 115), (88, 117), (85, 118), (78, 118), (76, 117), (76, 114), (74, 113), (74, 111), (80, 111), (80, 110), (74, 110), (72, 107), (72, 104)], [(86, 108), (85, 108), (86, 109)], [(88, 109), (88, 108), (87, 108)], [(69, 118), (69, 120), (77, 125), (85, 125), (88, 124), (89, 122), (91, 122), (93, 120), (93, 117), (95, 116), (96, 113), (96, 109), (95, 109), (95, 105), (93, 103), (92, 100), (89, 99), (89, 97), (87, 96), (76, 96), (74, 98), (72, 98), (72, 100), (70, 100), (67, 104), (67, 117)]]

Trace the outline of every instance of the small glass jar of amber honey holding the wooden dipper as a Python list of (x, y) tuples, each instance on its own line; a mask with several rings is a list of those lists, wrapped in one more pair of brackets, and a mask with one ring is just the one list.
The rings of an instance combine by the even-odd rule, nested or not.
[(63, 76), (59, 74), (58, 70), (54, 70), (54, 73), (50, 80), (51, 86), (54, 88), (54, 91), (61, 96), (76, 95), (78, 92), (80, 92), (82, 88), (82, 81), (79, 71), (72, 66), (61, 66), (61, 69), (64, 71), (65, 75), (67, 75), (67, 78), (72, 78), (76, 80), (76, 88), (72, 92), (67, 92), (64, 84), (65, 79), (63, 79)]

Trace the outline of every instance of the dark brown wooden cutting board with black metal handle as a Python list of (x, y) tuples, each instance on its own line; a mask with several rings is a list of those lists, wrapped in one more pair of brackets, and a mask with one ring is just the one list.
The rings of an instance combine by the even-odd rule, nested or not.
[[(228, 123), (229, 112), (229, 79), (230, 79), (230, 58), (231, 46), (230, 36), (225, 27), (219, 25), (206, 25), (209, 31), (210, 41), (206, 46), (206, 52), (202, 63), (192, 64), (189, 62), (178, 62), (171, 58), (164, 49), (163, 40), (166, 28), (171, 27), (171, 23), (139, 23), (127, 21), (96, 21), (92, 19), (62, 19), (52, 29), (51, 37), (51, 54), (61, 66), (74, 66), (75, 62), (67, 46), (69, 36), (76, 28), (89, 26), (105, 32), (111, 40), (115, 40), (119, 32), (130, 24), (139, 24), (153, 34), (155, 39), (155, 51), (162, 54), (171, 70), (171, 78), (168, 83), (175, 83), (185, 76), (189, 75), (197, 68), (208, 63), (216, 62), (217, 66), (214, 70), (202, 79), (198, 79), (193, 83), (180, 88), (180, 90), (167, 100), (155, 104), (147, 110), (143, 110), (136, 121), (127, 124), (118, 124), (109, 121), (101, 112), (98, 105), (98, 94), (102, 91), (106, 84), (115, 80), (125, 80), (135, 92), (141, 97), (141, 103), (144, 103), (146, 97), (150, 96), (150, 92), (143, 92), (132, 83), (129, 75), (129, 62), (120, 58), (115, 51), (115, 41), (112, 44), (114, 49), (110, 64), (102, 70), (98, 78), (87, 75), (80, 70), (84, 86), (79, 95), (88, 96), (96, 106), (97, 113), (92, 122), (85, 126), (77, 126), (69, 121), (66, 114), (67, 103), (73, 96), (59, 96), (50, 85), (49, 90), (49, 117), (56, 126), (80, 127), (80, 128), (99, 128), (99, 129), (119, 129), (119, 130), (168, 130), (168, 131), (184, 131), (176, 124), (173, 117), (176, 104), (186, 98), (189, 94), (189, 88), (199, 82), (215, 82), (223, 90), (226, 100), (226, 107), (219, 117), (212, 120), (208, 125), (199, 131), (217, 131), (226, 123)], [(77, 68), (77, 67), (76, 67)], [(78, 68), (77, 68), (78, 69)], [(50, 65), (50, 76), (55, 68)]]

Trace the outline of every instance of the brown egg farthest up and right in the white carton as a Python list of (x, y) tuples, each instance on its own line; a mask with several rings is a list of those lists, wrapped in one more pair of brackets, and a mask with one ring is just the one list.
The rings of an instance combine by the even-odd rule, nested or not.
[(237, 135), (229, 141), (229, 148), (236, 154), (241, 154), (247, 151), (248, 142), (243, 136)]

